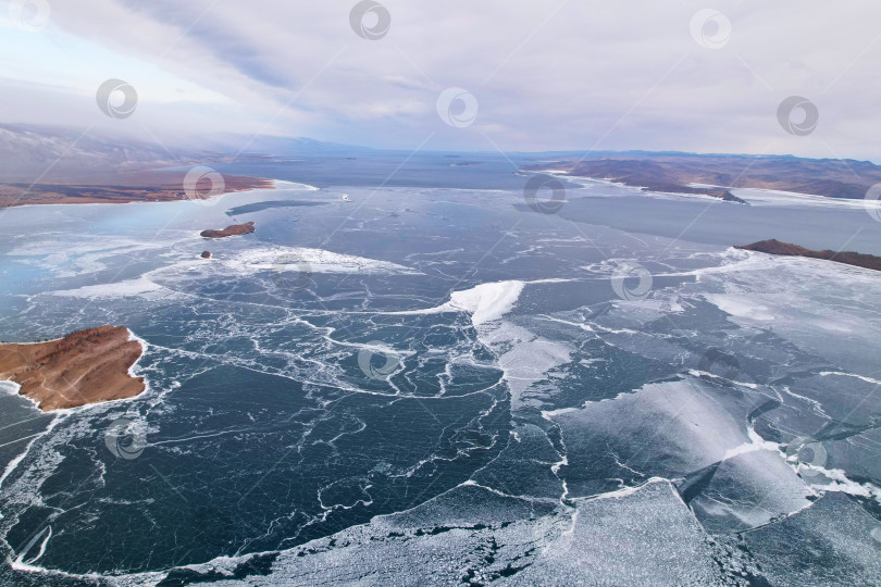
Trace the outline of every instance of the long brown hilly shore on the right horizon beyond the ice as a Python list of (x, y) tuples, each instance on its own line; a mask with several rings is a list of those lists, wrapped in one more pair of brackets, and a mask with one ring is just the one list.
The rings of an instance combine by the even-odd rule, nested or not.
[(881, 166), (868, 161), (791, 155), (605, 152), (524, 168), (566, 171), (653, 191), (699, 192), (723, 199), (730, 199), (725, 193), (730, 195), (727, 190), (732, 188), (864, 198), (871, 186), (881, 183)]

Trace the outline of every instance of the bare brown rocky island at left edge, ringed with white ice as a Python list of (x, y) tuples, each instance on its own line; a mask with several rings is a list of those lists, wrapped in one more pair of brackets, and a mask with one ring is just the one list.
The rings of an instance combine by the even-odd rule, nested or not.
[(64, 338), (0, 345), (0, 378), (21, 386), (20, 394), (44, 412), (134, 398), (146, 388), (129, 369), (144, 352), (124, 326), (99, 326)]

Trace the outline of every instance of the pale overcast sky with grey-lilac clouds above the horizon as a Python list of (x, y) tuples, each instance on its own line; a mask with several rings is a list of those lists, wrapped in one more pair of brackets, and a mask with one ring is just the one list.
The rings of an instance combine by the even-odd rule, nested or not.
[[(356, 4), (12, 2), (0, 10), (0, 122), (163, 138), (265, 133), (404, 150), (881, 162), (878, 0), (382, 0), (363, 21), (376, 39), (352, 28)], [(108, 78), (136, 88), (131, 117), (97, 107)], [(451, 87), (473, 99), (454, 100), (445, 121), (437, 102)], [(790, 96), (816, 104), (816, 129), (783, 128), (778, 108)], [(796, 126), (804, 115), (794, 112)]]

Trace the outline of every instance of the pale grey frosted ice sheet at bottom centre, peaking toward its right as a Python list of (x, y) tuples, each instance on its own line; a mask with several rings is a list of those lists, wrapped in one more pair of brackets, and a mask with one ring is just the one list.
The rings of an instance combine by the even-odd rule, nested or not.
[[(482, 496), (463, 524), (461, 496), (421, 511), (394, 514), (282, 553), (270, 575), (252, 585), (722, 585), (700, 524), (672, 485), (653, 479), (641, 488), (512, 521), (510, 498)], [(443, 500), (442, 500), (443, 501)], [(485, 504), (495, 502), (495, 513)], [(427, 504), (426, 504), (427, 505)], [(514, 508), (514, 509), (511, 509)], [(413, 525), (419, 521), (440, 523)], [(419, 510), (419, 509), (418, 509)], [(482, 510), (482, 512), (481, 512)], [(430, 513), (426, 515), (426, 513)], [(517, 516), (514, 516), (517, 517)], [(648, 553), (650, 552), (650, 555)], [(212, 583), (233, 586), (231, 580)]]

